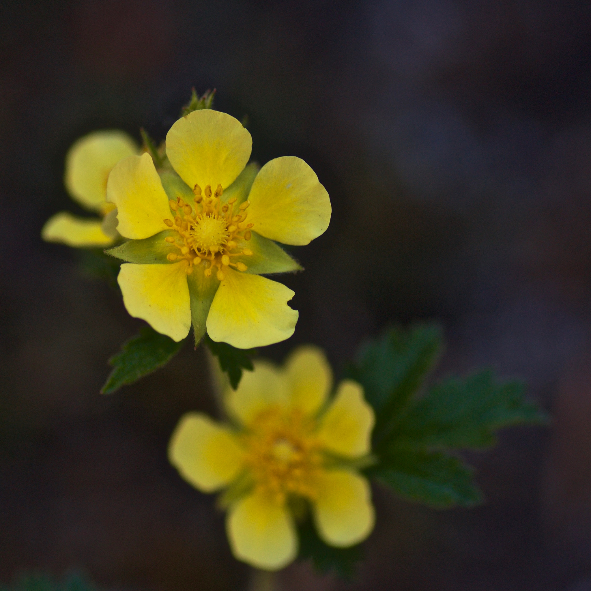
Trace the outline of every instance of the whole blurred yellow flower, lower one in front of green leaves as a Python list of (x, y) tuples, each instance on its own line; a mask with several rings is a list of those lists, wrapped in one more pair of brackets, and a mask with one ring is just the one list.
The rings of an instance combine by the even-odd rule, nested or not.
[(284, 368), (255, 363), (225, 392), (232, 425), (202, 413), (178, 423), (170, 462), (200, 491), (228, 487), (226, 530), (239, 560), (266, 570), (290, 563), (302, 506), (333, 546), (356, 544), (374, 527), (369, 483), (354, 467), (370, 452), (374, 411), (356, 382), (341, 382), (327, 401), (331, 388), (323, 353), (303, 347)]

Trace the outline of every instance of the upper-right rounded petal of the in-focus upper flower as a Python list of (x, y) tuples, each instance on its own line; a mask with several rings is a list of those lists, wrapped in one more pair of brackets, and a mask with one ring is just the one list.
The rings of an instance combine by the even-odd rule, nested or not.
[(265, 238), (304, 245), (329, 227), (329, 194), (301, 158), (282, 156), (265, 164), (248, 200), (248, 221)]

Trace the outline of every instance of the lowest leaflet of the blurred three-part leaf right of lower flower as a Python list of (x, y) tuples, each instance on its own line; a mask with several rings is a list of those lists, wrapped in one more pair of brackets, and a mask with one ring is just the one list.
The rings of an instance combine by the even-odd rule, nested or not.
[(431, 507), (470, 507), (482, 502), (482, 493), (472, 482), (472, 468), (441, 452), (395, 446), (366, 472), (403, 498)]

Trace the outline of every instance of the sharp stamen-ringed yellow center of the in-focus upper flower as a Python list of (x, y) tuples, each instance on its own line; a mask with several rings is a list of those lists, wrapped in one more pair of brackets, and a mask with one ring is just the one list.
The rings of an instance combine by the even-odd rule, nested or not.
[(195, 197), (194, 205), (185, 203), (181, 197), (168, 204), (175, 213), (174, 221), (165, 219), (164, 223), (169, 228), (178, 232), (177, 238), (168, 236), (165, 241), (174, 245), (180, 251), (171, 252), (167, 258), (169, 261), (186, 261), (185, 271), (187, 275), (193, 272), (194, 265), (207, 265), (204, 275), (210, 277), (213, 267), (217, 267), (216, 277), (222, 281), (228, 267), (238, 271), (246, 271), (246, 265), (241, 262), (232, 262), (235, 256), (250, 256), (252, 251), (248, 248), (238, 248), (238, 243), (244, 243), (251, 239), (252, 223), (246, 223), (246, 209), (249, 202), (245, 201), (236, 206), (236, 198), (222, 202), (222, 186), (218, 185), (214, 194), (212, 187), (207, 185), (202, 194), (201, 187), (193, 188)]

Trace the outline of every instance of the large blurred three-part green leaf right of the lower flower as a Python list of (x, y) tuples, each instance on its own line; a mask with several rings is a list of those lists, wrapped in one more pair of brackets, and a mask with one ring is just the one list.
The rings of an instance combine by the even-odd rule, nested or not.
[(424, 392), (443, 349), (441, 329), (419, 324), (388, 329), (365, 343), (348, 368), (374, 407), (372, 454), (365, 469), (399, 495), (434, 507), (482, 501), (473, 470), (453, 450), (496, 443), (495, 431), (548, 421), (518, 382), (497, 382), (491, 371), (449, 378)]

